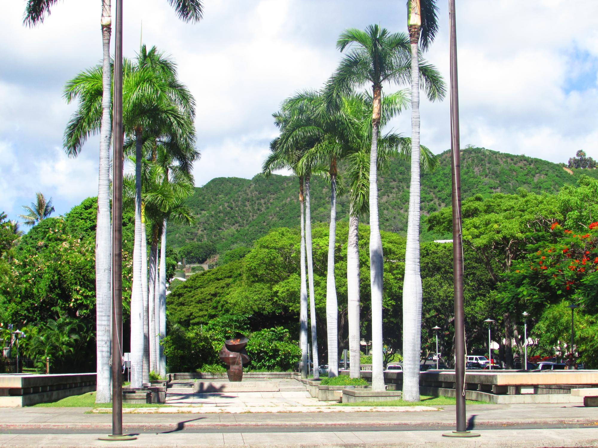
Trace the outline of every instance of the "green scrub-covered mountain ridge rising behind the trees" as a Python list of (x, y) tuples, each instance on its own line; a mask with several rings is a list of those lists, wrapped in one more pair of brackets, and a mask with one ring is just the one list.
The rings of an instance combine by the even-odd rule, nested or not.
[[(570, 174), (572, 173), (572, 174)], [(502, 192), (512, 194), (518, 188), (530, 192), (557, 192), (565, 183), (575, 183), (581, 174), (598, 177), (598, 170), (566, 171), (562, 164), (542, 159), (468, 148), (461, 155), (461, 189), (463, 198)], [(380, 227), (404, 234), (407, 228), (410, 167), (407, 162), (393, 161), (379, 177)], [(329, 220), (330, 189), (322, 179), (313, 179), (311, 188), (312, 221)], [(450, 152), (440, 155), (434, 173), (422, 176), (422, 214), (450, 204)], [(298, 180), (294, 176), (258, 174), (253, 179), (218, 177), (196, 188), (188, 205), (197, 214), (194, 226), (169, 227), (169, 244), (179, 248), (191, 241), (212, 241), (219, 253), (251, 246), (271, 228), (294, 227), (299, 222)], [(337, 200), (337, 219), (348, 220), (347, 197)], [(368, 217), (362, 217), (368, 223)], [(422, 239), (447, 235), (428, 234), (422, 226)]]

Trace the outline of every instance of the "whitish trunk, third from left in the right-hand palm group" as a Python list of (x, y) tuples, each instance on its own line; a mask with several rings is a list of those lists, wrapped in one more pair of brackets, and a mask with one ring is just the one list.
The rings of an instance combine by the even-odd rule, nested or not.
[(334, 280), (336, 246), (336, 158), (330, 162), (330, 228), (328, 231), (328, 275), (326, 277), (326, 326), (328, 336), (328, 376), (338, 376), (338, 301)]

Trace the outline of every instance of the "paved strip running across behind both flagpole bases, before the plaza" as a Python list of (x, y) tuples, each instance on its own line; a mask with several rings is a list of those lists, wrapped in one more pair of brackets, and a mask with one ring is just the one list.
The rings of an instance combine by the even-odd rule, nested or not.
[[(123, 425), (130, 429), (169, 431), (191, 428), (242, 428), (283, 426), (316, 428), (322, 426), (415, 426), (453, 428), (453, 406), (431, 412), (287, 412), (287, 413), (203, 413), (143, 414), (125, 413)], [(0, 408), (0, 431), (33, 429), (102, 429), (111, 428), (111, 414), (89, 413), (80, 407)], [(598, 428), (598, 407), (573, 404), (475, 404), (467, 406), (468, 424), (472, 428), (580, 425)]]

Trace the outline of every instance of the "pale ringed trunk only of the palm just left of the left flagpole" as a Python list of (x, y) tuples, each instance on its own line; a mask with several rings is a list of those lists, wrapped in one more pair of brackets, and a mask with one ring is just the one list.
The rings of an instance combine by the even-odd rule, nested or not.
[(97, 186), (96, 222), (96, 403), (109, 403), (112, 370), (111, 280), (112, 243), (110, 225), (110, 137), (112, 122), (110, 70), (110, 0), (102, 2), (102, 123), (100, 125), (100, 171)]

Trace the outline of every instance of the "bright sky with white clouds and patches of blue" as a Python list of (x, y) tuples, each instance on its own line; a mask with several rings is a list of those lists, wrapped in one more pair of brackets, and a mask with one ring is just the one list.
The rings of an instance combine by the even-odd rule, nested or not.
[[(426, 55), (446, 78), (447, 3)], [(76, 159), (63, 152), (75, 105), (62, 88), (101, 59), (100, 1), (59, 2), (33, 29), (22, 26), (24, 8), (25, 0), (5, 0), (0, 16), (0, 211), (13, 219), (36, 191), (53, 197), (57, 213), (97, 192), (97, 138)], [(598, 157), (598, 2), (575, 9), (584, 13), (566, 0), (457, 1), (462, 146), (553, 162), (580, 148)], [(322, 85), (344, 28), (407, 29), (404, 0), (205, 0), (196, 24), (180, 22), (166, 0), (126, 0), (125, 56), (135, 55), (142, 23), (143, 41), (172, 54), (196, 97), (198, 186), (258, 173), (276, 134), (271, 113)], [(424, 100), (421, 109), (422, 143), (448, 149), (449, 103)], [(408, 113), (392, 127), (409, 135)]]

